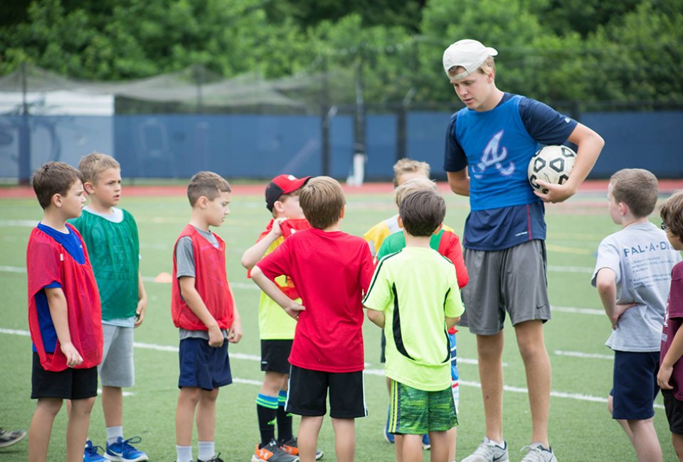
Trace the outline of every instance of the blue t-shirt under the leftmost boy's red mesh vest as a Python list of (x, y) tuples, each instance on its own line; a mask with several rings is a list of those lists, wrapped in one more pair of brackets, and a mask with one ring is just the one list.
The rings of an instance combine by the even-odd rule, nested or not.
[[(76, 262), (79, 264), (85, 263), (83, 245), (75, 233), (59, 232), (52, 227), (43, 225), (43, 223), (38, 223), (38, 230), (41, 230), (57, 241)], [(53, 281), (36, 294), (38, 324), (41, 326), (41, 335), (43, 336), (43, 345), (45, 346), (46, 353), (55, 352), (55, 348), (57, 347), (57, 331), (55, 331), (55, 325), (52, 322), (52, 315), (50, 314), (50, 306), (48, 305), (48, 297), (45, 294), (45, 289), (56, 289), (61, 286), (59, 281)], [(38, 351), (36, 350), (35, 344), (33, 344), (33, 351)]]

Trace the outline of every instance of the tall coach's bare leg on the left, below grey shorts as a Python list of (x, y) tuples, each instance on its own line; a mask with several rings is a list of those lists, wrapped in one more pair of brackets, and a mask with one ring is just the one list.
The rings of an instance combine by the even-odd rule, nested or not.
[(477, 335), (479, 377), (482, 383), (486, 436), (503, 442), (503, 332)]

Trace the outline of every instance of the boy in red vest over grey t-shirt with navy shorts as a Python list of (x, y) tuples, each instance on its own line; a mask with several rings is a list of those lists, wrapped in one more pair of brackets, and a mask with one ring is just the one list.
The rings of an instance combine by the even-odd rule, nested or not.
[(171, 286), (171, 317), (180, 333), (177, 462), (193, 460), (195, 410), (197, 462), (223, 462), (214, 444), (216, 399), (219, 387), (233, 382), (228, 342), (240, 341), (242, 323), (228, 284), (226, 244), (210, 227), (230, 213), (231, 188), (222, 176), (201, 171), (191, 178), (187, 198), (192, 213), (174, 246)]

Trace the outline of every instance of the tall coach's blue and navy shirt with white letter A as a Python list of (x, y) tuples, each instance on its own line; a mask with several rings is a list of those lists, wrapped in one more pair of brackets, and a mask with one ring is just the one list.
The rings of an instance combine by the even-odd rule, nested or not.
[[(510, 93), (491, 111), (463, 108), (452, 115), (444, 169), (469, 168), (471, 211), (463, 233), (465, 247), (502, 250), (546, 238), (544, 205), (532, 193), (526, 166), (541, 144), (564, 143), (576, 125), (544, 103)], [(461, 140), (469, 147), (467, 153)]]

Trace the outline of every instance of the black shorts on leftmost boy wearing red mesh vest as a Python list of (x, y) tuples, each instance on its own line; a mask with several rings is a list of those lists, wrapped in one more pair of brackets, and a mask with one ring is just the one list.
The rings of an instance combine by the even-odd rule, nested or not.
[(86, 399), (97, 396), (97, 366), (88, 369), (68, 367), (60, 372), (43, 369), (41, 358), (33, 352), (31, 399)]

